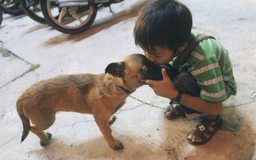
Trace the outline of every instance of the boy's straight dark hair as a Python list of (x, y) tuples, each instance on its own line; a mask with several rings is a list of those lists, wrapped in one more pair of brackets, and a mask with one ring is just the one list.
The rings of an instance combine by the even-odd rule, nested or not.
[(133, 29), (135, 44), (154, 52), (155, 46), (177, 52), (191, 35), (192, 15), (175, 0), (152, 0), (141, 9)]

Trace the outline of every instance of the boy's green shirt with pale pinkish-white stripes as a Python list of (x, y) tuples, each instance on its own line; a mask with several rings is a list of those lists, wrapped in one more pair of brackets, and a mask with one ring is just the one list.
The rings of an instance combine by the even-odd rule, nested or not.
[[(188, 42), (199, 35), (191, 32)], [(181, 55), (180, 53), (179, 55)], [(176, 66), (178, 57), (170, 62)], [(236, 94), (236, 82), (228, 51), (215, 39), (208, 38), (199, 43), (191, 52), (179, 72), (188, 71), (201, 88), (200, 97), (211, 102), (219, 102)]]

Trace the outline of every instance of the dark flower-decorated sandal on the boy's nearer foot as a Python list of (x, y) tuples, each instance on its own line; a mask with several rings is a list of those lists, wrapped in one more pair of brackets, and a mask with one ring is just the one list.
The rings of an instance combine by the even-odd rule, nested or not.
[(222, 123), (222, 120), (219, 118), (219, 115), (218, 117), (216, 117), (216, 120), (210, 120), (210, 119), (207, 119), (206, 117), (200, 117), (196, 127), (189, 134), (194, 134), (197, 137), (200, 137), (202, 139), (202, 142), (192, 142), (189, 139), (187, 139), (187, 141), (193, 145), (206, 144), (212, 139), (214, 134), (219, 130), (219, 128), (221, 127), (221, 123)]

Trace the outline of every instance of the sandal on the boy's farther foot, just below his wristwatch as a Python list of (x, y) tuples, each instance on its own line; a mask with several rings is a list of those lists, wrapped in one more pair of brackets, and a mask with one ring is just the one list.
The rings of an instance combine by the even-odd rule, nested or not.
[(166, 119), (169, 119), (169, 120), (177, 119), (180, 116), (185, 116), (185, 112), (182, 108), (182, 105), (180, 105), (180, 103), (177, 103), (177, 104), (170, 103), (170, 105), (167, 106), (167, 108), (165, 108), (164, 113), (165, 113)]

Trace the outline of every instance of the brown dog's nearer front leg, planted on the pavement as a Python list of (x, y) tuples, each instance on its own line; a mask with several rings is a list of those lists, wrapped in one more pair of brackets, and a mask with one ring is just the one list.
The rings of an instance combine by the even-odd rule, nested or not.
[(107, 141), (108, 145), (113, 149), (113, 150), (122, 150), (124, 149), (123, 144), (116, 140), (112, 136), (112, 130), (108, 124), (108, 119), (109, 117), (105, 117), (102, 115), (94, 115), (94, 119), (99, 127), (99, 130), (101, 130), (101, 133), (103, 134), (105, 140)]

